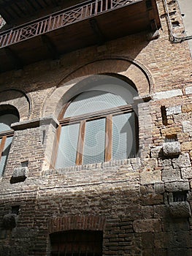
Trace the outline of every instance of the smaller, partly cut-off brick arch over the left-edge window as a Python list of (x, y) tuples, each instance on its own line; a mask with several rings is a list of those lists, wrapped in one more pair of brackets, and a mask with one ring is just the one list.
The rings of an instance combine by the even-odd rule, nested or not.
[(30, 116), (30, 102), (28, 96), (17, 89), (5, 89), (0, 91), (0, 105), (12, 105), (17, 108), (20, 121), (25, 121)]

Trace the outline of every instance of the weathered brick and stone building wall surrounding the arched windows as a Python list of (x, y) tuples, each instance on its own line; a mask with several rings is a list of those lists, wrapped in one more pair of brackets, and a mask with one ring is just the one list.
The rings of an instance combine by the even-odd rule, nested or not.
[[(153, 4), (155, 31), (1, 72), (1, 116), (19, 120), (1, 134), (13, 137), (0, 148), (0, 255), (192, 255), (191, 53), (178, 2)], [(135, 154), (55, 167), (62, 110), (105, 78), (117, 95), (134, 88)]]

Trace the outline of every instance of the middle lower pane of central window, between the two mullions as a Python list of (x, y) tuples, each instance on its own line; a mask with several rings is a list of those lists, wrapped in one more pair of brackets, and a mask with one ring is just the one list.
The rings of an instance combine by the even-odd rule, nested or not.
[(83, 165), (104, 162), (105, 118), (88, 121), (85, 127)]

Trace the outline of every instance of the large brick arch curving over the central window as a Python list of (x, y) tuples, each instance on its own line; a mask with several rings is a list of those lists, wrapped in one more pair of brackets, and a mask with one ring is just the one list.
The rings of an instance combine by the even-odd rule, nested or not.
[(136, 86), (139, 96), (145, 97), (151, 94), (153, 89), (153, 79), (147, 69), (139, 62), (128, 59), (127, 57), (110, 56), (97, 59), (84, 64), (73, 72), (66, 75), (54, 91), (45, 99), (42, 109), (43, 116), (50, 116), (58, 113), (63, 107), (65, 100), (64, 95), (73, 86), (80, 83), (85, 78), (92, 75), (114, 75), (122, 80), (127, 80)]

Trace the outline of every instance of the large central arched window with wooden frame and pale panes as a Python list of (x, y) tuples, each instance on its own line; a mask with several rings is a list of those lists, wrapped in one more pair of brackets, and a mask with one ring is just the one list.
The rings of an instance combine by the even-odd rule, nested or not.
[(131, 89), (124, 89), (126, 96), (123, 97), (120, 86), (114, 87), (115, 90), (111, 90), (112, 85), (106, 88), (105, 85), (103, 90), (100, 86), (83, 91), (62, 111), (56, 168), (136, 156), (134, 90), (130, 92)]

